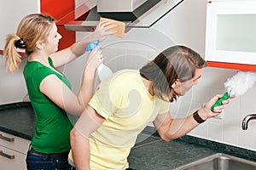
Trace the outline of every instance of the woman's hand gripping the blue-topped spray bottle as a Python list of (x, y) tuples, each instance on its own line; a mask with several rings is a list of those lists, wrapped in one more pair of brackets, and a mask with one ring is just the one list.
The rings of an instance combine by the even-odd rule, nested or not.
[(92, 70), (96, 70), (99, 65), (101, 65), (103, 62), (103, 54), (102, 54), (102, 48), (100, 45), (96, 46), (92, 51), (90, 51), (90, 54), (88, 56), (88, 59), (86, 61), (86, 67), (89, 67)]

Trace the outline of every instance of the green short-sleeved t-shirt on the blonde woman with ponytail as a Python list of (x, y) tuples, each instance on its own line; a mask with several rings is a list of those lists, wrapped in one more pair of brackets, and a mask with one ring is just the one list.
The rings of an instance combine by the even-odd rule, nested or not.
[[(50, 58), (48, 61), (49, 65), (55, 68)], [(71, 88), (67, 77), (63, 77), (37, 61), (27, 61), (23, 71), (29, 98), (36, 114), (32, 148), (38, 152), (48, 154), (70, 150), (69, 133), (73, 128), (67, 113), (40, 91), (40, 83), (45, 77), (52, 74), (59, 77), (68, 88)]]

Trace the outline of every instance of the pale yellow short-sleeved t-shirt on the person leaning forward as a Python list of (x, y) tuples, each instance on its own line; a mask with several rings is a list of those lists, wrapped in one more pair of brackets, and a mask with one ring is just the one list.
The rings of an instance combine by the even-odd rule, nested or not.
[(137, 135), (168, 111), (169, 102), (149, 94), (138, 71), (122, 70), (99, 85), (90, 106), (106, 119), (90, 135), (90, 168), (120, 170), (129, 167)]

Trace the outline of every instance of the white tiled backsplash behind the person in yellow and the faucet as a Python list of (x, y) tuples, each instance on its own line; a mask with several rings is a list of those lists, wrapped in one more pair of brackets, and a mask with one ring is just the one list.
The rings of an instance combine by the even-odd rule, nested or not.
[[(106, 64), (117, 71), (124, 68), (138, 69), (157, 54), (154, 50), (108, 48), (103, 51)], [(236, 74), (236, 70), (207, 67), (202, 71), (199, 83), (187, 94), (170, 104), (173, 118), (188, 116), (201, 108), (212, 96), (224, 93), (224, 82)], [(244, 116), (256, 113), (256, 85), (246, 94), (230, 99), (220, 118), (211, 118), (189, 133), (191, 136), (210, 139), (248, 150), (256, 151), (256, 121), (249, 122), (247, 130), (241, 129)], [(152, 126), (152, 124), (149, 124)]]

